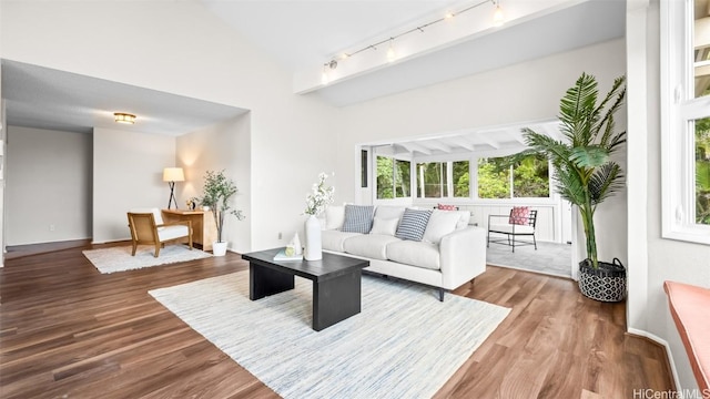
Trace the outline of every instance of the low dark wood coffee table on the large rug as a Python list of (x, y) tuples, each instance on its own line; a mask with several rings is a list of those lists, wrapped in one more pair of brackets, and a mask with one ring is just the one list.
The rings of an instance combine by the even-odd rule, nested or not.
[(321, 331), (361, 311), (361, 277), (368, 260), (323, 253), (321, 260), (274, 260), (283, 248), (242, 255), (248, 260), (248, 298), (294, 288), (294, 276), (313, 282), (313, 329)]

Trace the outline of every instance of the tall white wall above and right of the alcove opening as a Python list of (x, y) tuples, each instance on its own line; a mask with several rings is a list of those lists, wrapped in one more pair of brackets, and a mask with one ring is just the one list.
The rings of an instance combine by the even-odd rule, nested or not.
[(2, 58), (251, 110), (252, 187), (240, 183), (251, 195), (251, 246), (285, 245), (286, 232), (303, 225), (301, 197), (318, 172), (335, 170), (337, 112), (317, 95), (294, 95), (290, 72), (199, 2), (1, 7)]

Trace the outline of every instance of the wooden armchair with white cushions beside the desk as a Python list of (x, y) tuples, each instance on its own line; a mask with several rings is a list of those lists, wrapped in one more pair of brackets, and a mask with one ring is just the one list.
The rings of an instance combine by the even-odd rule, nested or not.
[(163, 217), (158, 208), (132, 209), (128, 213), (131, 242), (135, 256), (139, 245), (154, 245), (154, 257), (160, 255), (160, 248), (169, 242), (184, 242), (185, 238), (192, 250), (192, 223), (190, 221), (163, 223)]

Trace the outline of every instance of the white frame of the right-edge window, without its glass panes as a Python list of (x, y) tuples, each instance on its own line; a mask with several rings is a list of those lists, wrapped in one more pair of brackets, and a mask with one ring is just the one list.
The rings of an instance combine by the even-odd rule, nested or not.
[(661, 236), (710, 244), (710, 225), (696, 223), (691, 122), (710, 116), (710, 95), (694, 98), (693, 6), (693, 0), (660, 2)]

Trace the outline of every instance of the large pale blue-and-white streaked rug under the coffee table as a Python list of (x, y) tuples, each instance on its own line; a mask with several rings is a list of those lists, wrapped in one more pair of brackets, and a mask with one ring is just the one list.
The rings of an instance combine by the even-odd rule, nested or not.
[(248, 272), (150, 294), (284, 398), (430, 398), (510, 311), (363, 276), (362, 313), (316, 332), (301, 277), (256, 301)]

